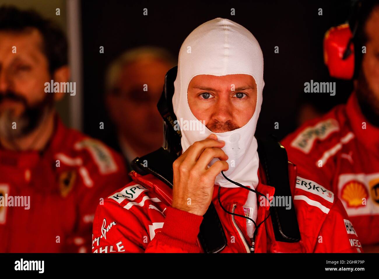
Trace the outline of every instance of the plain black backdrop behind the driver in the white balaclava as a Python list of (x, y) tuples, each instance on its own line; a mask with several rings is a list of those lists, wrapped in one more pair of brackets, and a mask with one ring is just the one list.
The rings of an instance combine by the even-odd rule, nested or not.
[[(82, 1), (85, 133), (103, 139), (111, 124), (103, 92), (106, 66), (124, 50), (142, 45), (161, 46), (175, 57), (186, 36), (198, 25), (224, 17), (257, 38), (265, 61), (263, 105), (257, 136), (275, 134), (282, 139), (296, 128), (298, 108), (306, 101), (327, 112), (345, 102), (351, 81), (329, 77), (323, 63), (326, 30), (349, 18), (346, 1), (233, 1), (174, 4), (165, 2)], [(143, 9), (148, 15), (143, 16)], [(235, 8), (235, 16), (230, 9)], [(318, 9), (323, 15), (318, 15)], [(104, 54), (99, 47), (104, 46)], [(279, 54), (274, 47), (279, 46)], [(304, 93), (304, 82), (336, 82), (336, 95)], [(279, 122), (279, 129), (274, 123)], [(99, 129), (104, 122), (104, 129)]]

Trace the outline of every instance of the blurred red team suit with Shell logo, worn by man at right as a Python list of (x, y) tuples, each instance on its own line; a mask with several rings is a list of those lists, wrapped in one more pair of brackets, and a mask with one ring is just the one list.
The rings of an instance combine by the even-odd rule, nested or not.
[(379, 243), (379, 128), (356, 94), (281, 143), (299, 172), (338, 196), (362, 244)]

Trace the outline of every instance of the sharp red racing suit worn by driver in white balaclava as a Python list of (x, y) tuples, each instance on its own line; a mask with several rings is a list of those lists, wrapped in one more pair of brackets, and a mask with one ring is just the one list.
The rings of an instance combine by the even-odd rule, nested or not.
[[(258, 228), (255, 252), (362, 252), (357, 234), (340, 200), (331, 191), (305, 178), (296, 177), (289, 163), (293, 204), (301, 241), (275, 240), (271, 217)], [(171, 207), (172, 190), (151, 174), (130, 173), (133, 181), (97, 207), (92, 236), (92, 252), (203, 252), (197, 235), (202, 216)], [(274, 188), (265, 185), (262, 167), (256, 188), (269, 198)], [(306, 183), (306, 184), (304, 184)], [(226, 234), (227, 246), (221, 252), (251, 252), (246, 219), (222, 210), (215, 185), (212, 202)], [(248, 190), (221, 188), (221, 203), (227, 211), (244, 215)], [(271, 198), (270, 198), (271, 199)], [(269, 214), (269, 203), (258, 198), (257, 224)], [(263, 201), (263, 202), (262, 202)], [(245, 215), (246, 216), (246, 215)]]

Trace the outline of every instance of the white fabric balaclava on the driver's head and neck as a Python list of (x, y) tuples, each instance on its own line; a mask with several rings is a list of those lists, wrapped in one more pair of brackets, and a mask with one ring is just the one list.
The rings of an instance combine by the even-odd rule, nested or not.
[[(233, 131), (216, 133), (211, 132), (197, 120), (189, 108), (187, 90), (193, 77), (204, 74), (213, 76), (247, 74), (254, 78), (257, 84), (257, 105), (249, 122)], [(181, 118), (189, 123), (197, 121), (201, 126), (199, 130), (202, 131), (182, 130), (183, 152), (194, 142), (215, 134), (219, 140), (224, 140), (225, 146), (222, 150), (229, 156), (227, 160), (229, 170), (224, 172), (226, 177), (255, 188), (258, 184), (259, 159), (254, 133), (264, 85), (262, 50), (249, 30), (232, 20), (219, 17), (193, 30), (180, 48), (172, 103), (178, 121)], [(210, 166), (217, 160), (213, 159)], [(227, 181), (221, 173), (216, 177), (215, 184), (226, 188), (238, 187)]]

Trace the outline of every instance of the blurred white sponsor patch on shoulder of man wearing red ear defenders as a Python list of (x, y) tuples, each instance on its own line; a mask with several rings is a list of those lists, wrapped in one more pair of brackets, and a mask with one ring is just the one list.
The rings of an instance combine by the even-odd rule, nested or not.
[(329, 134), (339, 130), (340, 126), (338, 125), (337, 120), (333, 118), (320, 121), (315, 126), (309, 126), (298, 134), (298, 136), (291, 142), (291, 147), (297, 148), (305, 154), (308, 154), (316, 139), (326, 139)]

